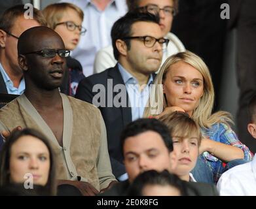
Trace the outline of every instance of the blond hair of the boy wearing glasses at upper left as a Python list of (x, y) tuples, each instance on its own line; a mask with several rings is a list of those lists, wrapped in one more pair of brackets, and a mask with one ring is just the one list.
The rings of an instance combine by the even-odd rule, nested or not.
[(64, 16), (64, 12), (67, 11), (68, 8), (75, 10), (79, 15), (79, 18), (81, 18), (81, 20), (84, 20), (84, 12), (82, 12), (81, 8), (77, 7), (76, 5), (73, 5), (71, 3), (55, 3), (52, 5), (48, 5), (42, 11), (43, 15), (46, 18), (48, 27), (50, 27), (51, 29), (55, 29), (56, 24), (60, 22), (60, 20)]

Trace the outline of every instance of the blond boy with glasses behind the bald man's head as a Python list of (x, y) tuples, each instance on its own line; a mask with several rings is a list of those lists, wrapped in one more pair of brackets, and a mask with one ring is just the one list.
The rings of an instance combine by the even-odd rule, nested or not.
[[(64, 41), (67, 50), (74, 50), (79, 43), (81, 35), (86, 29), (82, 27), (84, 13), (81, 8), (71, 3), (55, 3), (48, 5), (43, 14), (48, 27), (54, 29)], [(82, 66), (77, 59), (67, 58), (68, 73), (65, 73), (61, 91), (67, 95), (74, 96), (77, 91), (79, 81), (84, 78)]]

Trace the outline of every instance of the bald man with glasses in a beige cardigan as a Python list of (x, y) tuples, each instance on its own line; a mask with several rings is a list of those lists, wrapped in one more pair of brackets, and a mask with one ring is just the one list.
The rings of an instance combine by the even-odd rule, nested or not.
[(6, 136), (20, 126), (44, 133), (58, 153), (58, 184), (95, 195), (116, 180), (100, 110), (59, 92), (69, 54), (60, 35), (48, 27), (32, 27), (20, 35), (18, 63), (26, 90), (1, 108), (0, 131)]

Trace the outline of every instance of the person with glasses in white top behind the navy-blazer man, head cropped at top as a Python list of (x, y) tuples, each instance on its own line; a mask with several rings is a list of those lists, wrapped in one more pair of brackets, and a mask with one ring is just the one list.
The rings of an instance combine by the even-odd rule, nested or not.
[[(159, 25), (162, 31), (162, 36), (169, 39), (168, 47), (163, 52), (162, 63), (167, 57), (185, 51), (182, 42), (170, 33), (172, 21), (177, 13), (177, 0), (126, 0), (129, 11), (150, 12), (159, 15)], [(107, 46), (102, 48), (94, 60), (94, 72), (102, 72), (109, 67), (114, 67), (117, 60), (113, 56), (113, 47)]]

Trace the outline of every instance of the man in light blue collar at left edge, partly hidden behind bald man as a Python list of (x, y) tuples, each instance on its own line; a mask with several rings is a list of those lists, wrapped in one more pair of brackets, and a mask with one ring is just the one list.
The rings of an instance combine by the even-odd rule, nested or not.
[(18, 65), (17, 43), (20, 34), (39, 25), (46, 25), (43, 14), (33, 8), (33, 19), (24, 17), (24, 5), (6, 10), (0, 20), (0, 93), (20, 95), (25, 90), (22, 69)]

